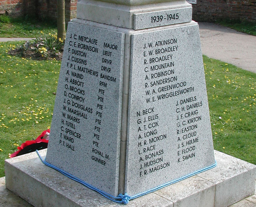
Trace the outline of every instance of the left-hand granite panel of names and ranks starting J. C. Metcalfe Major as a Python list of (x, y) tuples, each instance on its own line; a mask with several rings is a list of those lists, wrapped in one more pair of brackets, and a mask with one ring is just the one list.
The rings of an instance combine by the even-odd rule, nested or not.
[(124, 34), (69, 23), (46, 161), (117, 195)]

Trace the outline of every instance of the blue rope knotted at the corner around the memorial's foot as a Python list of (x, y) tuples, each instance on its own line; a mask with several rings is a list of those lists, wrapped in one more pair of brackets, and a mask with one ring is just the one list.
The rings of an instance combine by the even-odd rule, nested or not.
[(49, 166), (49, 167), (51, 167), (51, 168), (53, 168), (53, 169), (56, 169), (56, 170), (59, 171), (61, 174), (63, 174), (63, 175), (65, 175), (65, 176), (69, 177), (69, 178), (72, 179), (72, 180), (75, 180), (75, 181), (77, 181), (77, 182), (83, 184), (84, 186), (86, 186), (86, 187), (89, 188), (89, 189), (94, 190), (94, 191), (97, 191), (98, 193), (100, 193), (101, 195), (103, 195), (105, 198), (110, 199), (111, 201), (114, 201), (114, 202), (116, 202), (116, 203), (123, 203), (123, 204), (128, 204), (131, 199), (134, 199), (134, 198), (140, 197), (140, 196), (142, 196), (142, 195), (151, 193), (151, 192), (153, 192), (153, 191), (159, 190), (159, 189), (161, 189), (161, 188), (164, 188), (164, 187), (166, 187), (166, 186), (169, 186), (170, 184), (179, 182), (179, 181), (184, 180), (184, 179), (186, 179), (186, 178), (188, 178), (188, 177), (194, 176), (194, 175), (196, 175), (196, 174), (198, 174), (198, 173), (202, 173), (202, 172), (204, 172), (204, 171), (207, 171), (208, 169), (212, 169), (212, 168), (216, 167), (216, 165), (217, 165), (217, 162), (215, 161), (214, 164), (212, 164), (212, 165), (210, 165), (210, 166), (208, 166), (208, 167), (202, 168), (202, 169), (197, 170), (197, 171), (195, 171), (195, 172), (193, 172), (193, 173), (190, 173), (190, 174), (185, 175), (185, 176), (183, 176), (183, 177), (181, 177), (181, 178), (172, 180), (172, 181), (170, 181), (170, 182), (167, 182), (167, 183), (165, 183), (165, 184), (162, 184), (162, 185), (160, 185), (160, 186), (157, 186), (157, 187), (152, 188), (152, 189), (150, 189), (150, 190), (147, 190), (147, 191), (145, 191), (145, 192), (138, 193), (138, 194), (133, 195), (133, 196), (129, 196), (127, 193), (125, 193), (124, 195), (123, 195), (122, 193), (120, 193), (120, 194), (116, 197), (116, 196), (113, 196), (113, 195), (111, 195), (111, 194), (109, 194), (109, 193), (106, 193), (106, 192), (104, 192), (104, 191), (102, 191), (102, 190), (100, 190), (100, 189), (98, 189), (98, 188), (95, 188), (94, 186), (91, 186), (90, 184), (84, 182), (83, 180), (81, 180), (81, 179), (79, 179), (79, 178), (77, 178), (77, 177), (75, 177), (75, 176), (73, 176), (73, 175), (71, 175), (71, 174), (69, 174), (69, 173), (63, 171), (62, 169), (60, 169), (60, 168), (58, 168), (58, 167), (56, 167), (56, 166), (54, 166), (54, 165), (52, 165), (52, 164), (46, 162), (45, 160), (42, 159), (42, 157), (40, 156), (38, 150), (36, 150), (36, 152), (37, 152), (39, 158), (41, 159), (41, 161), (42, 161), (45, 165), (47, 165), (47, 166)]

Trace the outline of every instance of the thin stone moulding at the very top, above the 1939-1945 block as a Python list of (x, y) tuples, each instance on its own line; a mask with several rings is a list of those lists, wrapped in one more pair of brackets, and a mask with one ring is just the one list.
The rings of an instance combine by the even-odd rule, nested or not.
[(170, 2), (170, 1), (177, 1), (177, 0), (100, 0), (100, 1), (128, 5), (128, 6), (135, 6), (135, 5), (162, 3), (162, 2)]

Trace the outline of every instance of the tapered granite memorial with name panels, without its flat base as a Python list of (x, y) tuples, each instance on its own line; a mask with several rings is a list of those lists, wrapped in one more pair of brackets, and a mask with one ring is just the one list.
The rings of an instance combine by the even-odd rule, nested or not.
[(216, 165), (191, 16), (185, 0), (77, 3), (46, 163), (130, 199)]

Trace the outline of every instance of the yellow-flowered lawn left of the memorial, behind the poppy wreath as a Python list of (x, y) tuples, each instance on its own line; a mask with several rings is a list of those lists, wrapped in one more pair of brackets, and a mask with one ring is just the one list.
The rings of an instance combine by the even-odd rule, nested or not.
[(8, 55), (17, 44), (0, 43), (0, 177), (9, 153), (50, 128), (60, 70), (60, 61)]

